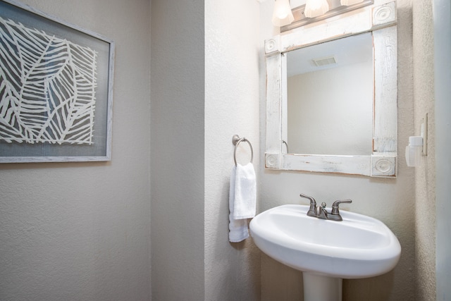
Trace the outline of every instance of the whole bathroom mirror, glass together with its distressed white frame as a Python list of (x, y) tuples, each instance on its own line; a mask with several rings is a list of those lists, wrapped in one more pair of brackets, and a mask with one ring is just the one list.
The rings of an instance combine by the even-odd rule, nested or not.
[[(382, 0), (265, 41), (266, 168), (396, 177), (396, 35), (395, 1)], [(314, 48), (310, 52), (317, 56), (300, 56), (310, 56), (310, 65), (312, 59), (321, 65), (342, 61), (340, 47), (354, 57), (366, 49), (365, 58), (353, 63), (370, 60), (359, 67), (365, 68), (363, 73), (348, 70), (348, 64), (332, 75), (320, 74), (324, 70), (313, 79), (296, 75), (302, 79), (290, 85), (298, 51)], [(313, 92), (326, 98), (308, 97)]]

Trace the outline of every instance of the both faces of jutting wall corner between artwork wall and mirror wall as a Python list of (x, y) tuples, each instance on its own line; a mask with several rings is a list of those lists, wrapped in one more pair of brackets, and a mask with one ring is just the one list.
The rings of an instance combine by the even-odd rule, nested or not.
[(152, 1), (153, 300), (259, 300), (259, 251), (228, 242), (233, 135), (259, 166), (258, 32), (257, 1)]

